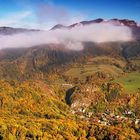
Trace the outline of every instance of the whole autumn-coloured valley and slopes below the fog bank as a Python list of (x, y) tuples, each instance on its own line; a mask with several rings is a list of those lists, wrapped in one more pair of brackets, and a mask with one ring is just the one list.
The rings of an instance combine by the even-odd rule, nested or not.
[(0, 139), (140, 138), (139, 41), (13, 50), (0, 51)]

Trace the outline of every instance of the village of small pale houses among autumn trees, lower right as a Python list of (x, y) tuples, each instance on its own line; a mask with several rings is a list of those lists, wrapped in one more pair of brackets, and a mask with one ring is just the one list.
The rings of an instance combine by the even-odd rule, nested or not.
[(140, 125), (140, 119), (135, 117), (135, 113), (131, 110), (126, 110), (123, 115), (117, 115), (109, 110), (104, 113), (94, 114), (94, 112), (86, 112), (85, 109), (78, 109), (78, 111), (71, 110), (73, 114), (79, 116), (81, 120), (94, 122), (102, 125), (117, 125), (122, 123)]

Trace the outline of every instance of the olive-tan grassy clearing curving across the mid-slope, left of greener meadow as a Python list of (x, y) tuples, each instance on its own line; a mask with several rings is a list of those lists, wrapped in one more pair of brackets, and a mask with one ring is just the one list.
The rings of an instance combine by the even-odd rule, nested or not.
[(100, 56), (92, 59), (90, 58), (87, 60), (87, 64), (83, 66), (71, 67), (65, 72), (65, 75), (84, 79), (86, 76), (100, 71), (110, 76), (117, 77), (123, 73), (123, 67), (125, 67), (125, 62), (121, 59)]

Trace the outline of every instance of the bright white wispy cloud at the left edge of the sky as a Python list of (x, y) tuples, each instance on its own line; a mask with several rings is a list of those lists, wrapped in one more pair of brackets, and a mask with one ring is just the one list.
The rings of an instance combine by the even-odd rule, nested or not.
[(0, 19), (0, 26), (14, 26), (31, 15), (30, 11), (16, 12)]

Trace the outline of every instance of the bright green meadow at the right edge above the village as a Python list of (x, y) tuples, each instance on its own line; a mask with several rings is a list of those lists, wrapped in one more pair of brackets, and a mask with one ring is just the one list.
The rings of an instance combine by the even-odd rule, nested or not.
[(128, 92), (133, 92), (140, 89), (140, 73), (138, 72), (128, 73), (115, 81), (122, 84), (125, 90)]

